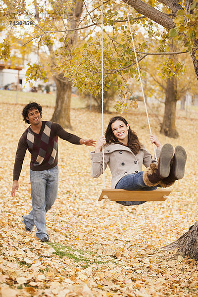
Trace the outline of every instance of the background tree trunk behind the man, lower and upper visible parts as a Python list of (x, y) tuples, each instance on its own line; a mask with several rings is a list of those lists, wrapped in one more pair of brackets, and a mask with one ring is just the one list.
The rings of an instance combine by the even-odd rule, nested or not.
[[(70, 26), (69, 29), (75, 29), (78, 26), (80, 16), (83, 11), (83, 1), (73, 0), (73, 6), (69, 13)], [(70, 33), (67, 47), (72, 47), (77, 42), (77, 31)], [(72, 128), (70, 123), (70, 104), (71, 104), (71, 88), (72, 82), (69, 82), (63, 73), (59, 73), (54, 77), (56, 84), (56, 103), (51, 121), (59, 123), (66, 128)]]

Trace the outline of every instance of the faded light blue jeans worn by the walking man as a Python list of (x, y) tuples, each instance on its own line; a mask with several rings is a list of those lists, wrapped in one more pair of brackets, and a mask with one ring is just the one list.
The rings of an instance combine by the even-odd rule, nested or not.
[(49, 237), (46, 228), (46, 212), (51, 208), (58, 193), (58, 166), (43, 171), (30, 169), (32, 210), (23, 216), (23, 223), (32, 230), (37, 228), (40, 239)]

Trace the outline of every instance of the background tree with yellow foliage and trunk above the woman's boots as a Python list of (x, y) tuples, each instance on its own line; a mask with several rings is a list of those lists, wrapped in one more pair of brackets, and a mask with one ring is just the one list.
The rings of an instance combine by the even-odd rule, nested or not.
[[(177, 47), (176, 43), (174, 47)], [(177, 138), (177, 101), (185, 98), (187, 92), (192, 95), (198, 93), (198, 83), (189, 55), (170, 56), (167, 59), (168, 63), (164, 62), (164, 57), (152, 56), (144, 62), (142, 68), (147, 71), (145, 93), (165, 104), (160, 132), (168, 137)]]

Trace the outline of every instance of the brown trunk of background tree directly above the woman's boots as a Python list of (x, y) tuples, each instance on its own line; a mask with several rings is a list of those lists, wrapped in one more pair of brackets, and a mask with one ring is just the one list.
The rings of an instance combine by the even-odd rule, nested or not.
[(160, 133), (178, 138), (179, 134), (175, 126), (175, 114), (177, 103), (177, 79), (174, 77), (167, 79), (166, 84), (166, 99), (164, 108), (163, 123), (161, 125)]

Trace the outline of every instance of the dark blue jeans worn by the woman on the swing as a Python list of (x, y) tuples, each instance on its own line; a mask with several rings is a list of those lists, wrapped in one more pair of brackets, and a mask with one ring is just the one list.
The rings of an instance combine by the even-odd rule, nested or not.
[[(115, 189), (123, 189), (128, 191), (142, 190), (142, 191), (152, 191), (156, 190), (157, 187), (148, 187), (143, 181), (143, 172), (140, 171), (136, 174), (128, 174), (121, 178), (116, 184)], [(119, 204), (130, 206), (143, 204), (146, 201), (116, 201)]]

